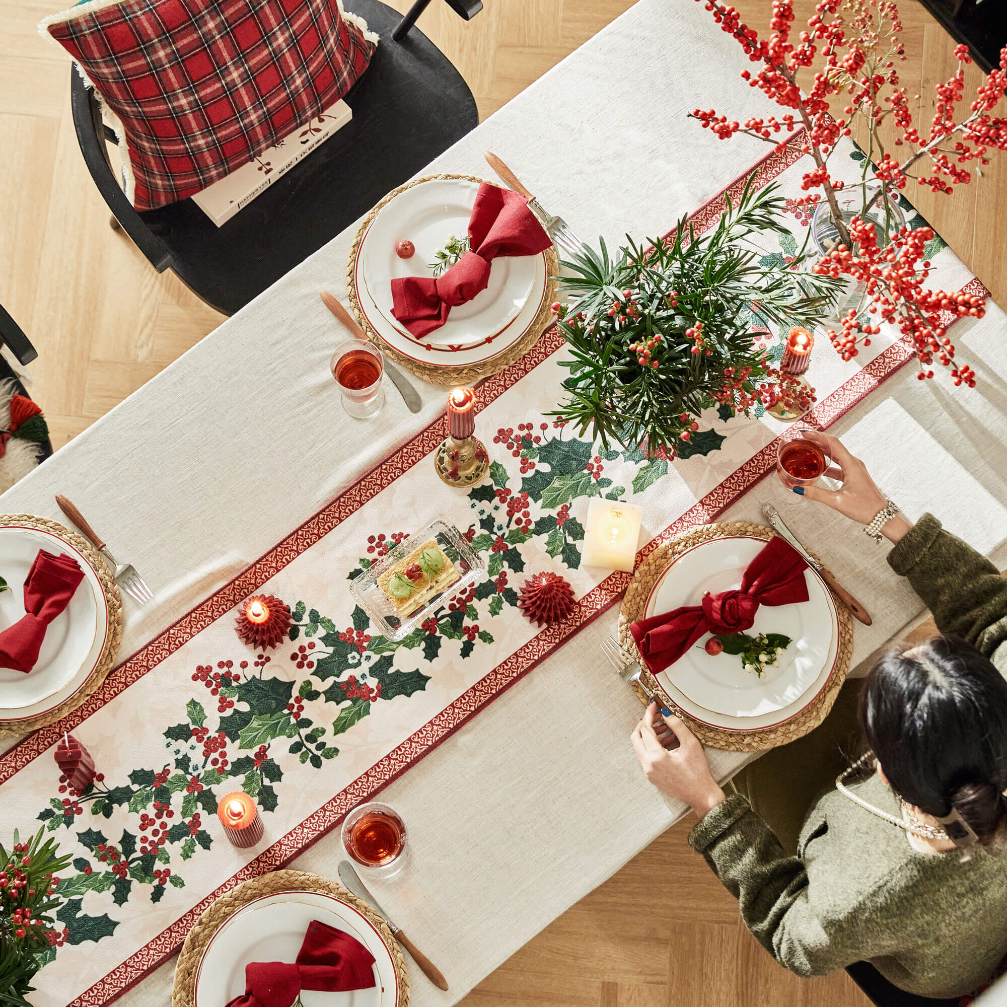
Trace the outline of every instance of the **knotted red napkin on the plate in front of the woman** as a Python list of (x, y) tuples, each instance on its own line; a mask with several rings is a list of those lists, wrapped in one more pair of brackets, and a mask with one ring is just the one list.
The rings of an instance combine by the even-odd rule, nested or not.
[(744, 632), (755, 621), (759, 605), (789, 605), (808, 600), (805, 570), (798, 551), (775, 536), (748, 564), (741, 587), (705, 594), (701, 605), (683, 605), (629, 626), (632, 638), (652, 672), (674, 665), (706, 632)]

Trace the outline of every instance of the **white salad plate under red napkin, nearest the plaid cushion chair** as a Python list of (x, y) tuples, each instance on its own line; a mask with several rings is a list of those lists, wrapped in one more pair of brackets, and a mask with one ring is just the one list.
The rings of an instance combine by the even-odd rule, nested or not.
[[(479, 191), (477, 182), (434, 178), (404, 189), (379, 210), (361, 242), (362, 275), (382, 317), (414, 338), (392, 314), (395, 278), (433, 277), (430, 263), (453, 235), (468, 234), (468, 220)], [(416, 247), (409, 259), (396, 255), (399, 242)], [(470, 301), (451, 308), (447, 321), (424, 336), (439, 346), (468, 348), (502, 332), (521, 313), (535, 287), (537, 256), (500, 256), (490, 264), (489, 282)]]

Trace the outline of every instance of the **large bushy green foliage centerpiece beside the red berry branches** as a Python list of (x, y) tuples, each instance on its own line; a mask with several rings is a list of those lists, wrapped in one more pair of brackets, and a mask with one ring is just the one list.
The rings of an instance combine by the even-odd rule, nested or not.
[(604, 447), (644, 446), (674, 457), (699, 428), (704, 409), (729, 415), (770, 408), (794, 394), (793, 380), (755, 347), (753, 319), (811, 326), (828, 314), (841, 286), (830, 276), (766, 268), (760, 234), (788, 234), (776, 186), (745, 187), (710, 233), (683, 219), (650, 246), (631, 240), (612, 259), (600, 243), (564, 265), (569, 295), (559, 330), (569, 399), (555, 415), (590, 427)]

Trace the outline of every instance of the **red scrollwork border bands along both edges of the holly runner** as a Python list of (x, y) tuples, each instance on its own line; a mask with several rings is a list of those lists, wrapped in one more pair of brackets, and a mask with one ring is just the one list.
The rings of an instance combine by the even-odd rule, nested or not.
[[(733, 200), (753, 171), (757, 184), (761, 186), (796, 163), (802, 156), (798, 149), (800, 137), (800, 133), (795, 134), (784, 151), (779, 153), (773, 151), (700, 207), (691, 218), (696, 225), (696, 231), (700, 233), (706, 231), (720, 219), (725, 208), (725, 200)], [(981, 295), (988, 293), (977, 279), (972, 280), (964, 289)], [(555, 329), (547, 331), (528, 354), (482, 384), (480, 409), (495, 401), (515, 382), (528, 375), (563, 345), (564, 340)], [(820, 402), (809, 418), (822, 426), (831, 425), (911, 358), (912, 352), (907, 343), (902, 341), (894, 343)], [(36, 731), (11, 748), (0, 757), (0, 782), (8, 779), (31, 759), (46, 751), (63, 730), (76, 727), (187, 640), (218, 618), (230, 613), (240, 601), (336, 528), (344, 518), (425, 458), (442, 441), (445, 429), (444, 417), (440, 417), (401, 449), (367, 472), (335, 500), (319, 511), (220, 591), (128, 658), (82, 707), (68, 714), (58, 724)], [(741, 494), (775, 468), (775, 458), (776, 442), (772, 441), (644, 546), (639, 558), (648, 556), (672, 536), (715, 520)], [(349, 786), (300, 825), (291, 829), (255, 860), (246, 864), (153, 941), (71, 1001), (67, 1007), (102, 1007), (135, 986), (178, 950), (192, 924), (217, 898), (242, 881), (283, 867), (335, 828), (352, 807), (373, 797), (433, 748), (443, 743), (479, 710), (536, 668), (556, 648), (615, 604), (625, 590), (630, 576), (626, 573), (613, 573), (606, 577), (577, 602), (574, 610), (564, 621), (541, 630), (420, 730), (358, 776)]]

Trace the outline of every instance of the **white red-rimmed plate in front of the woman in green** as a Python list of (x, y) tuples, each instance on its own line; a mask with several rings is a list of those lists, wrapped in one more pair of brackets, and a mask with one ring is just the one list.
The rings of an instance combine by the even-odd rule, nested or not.
[[(701, 543), (664, 571), (648, 598), (645, 615), (698, 605), (704, 592), (740, 586), (745, 568), (765, 546), (764, 539), (731, 536)], [(839, 653), (839, 616), (832, 595), (811, 571), (805, 572), (809, 600), (763, 605), (746, 632), (779, 632), (793, 640), (779, 666), (763, 678), (745, 672), (741, 659), (711, 657), (702, 636), (658, 681), (687, 713), (712, 727), (756, 730), (788, 720), (825, 687)]]

